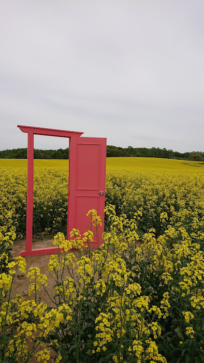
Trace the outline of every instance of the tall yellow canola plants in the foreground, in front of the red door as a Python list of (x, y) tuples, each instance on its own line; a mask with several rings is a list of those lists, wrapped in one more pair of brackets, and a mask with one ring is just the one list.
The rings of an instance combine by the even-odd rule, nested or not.
[[(0, 233), (1, 362), (27, 363), (35, 355), (46, 363), (51, 353), (56, 363), (203, 362), (200, 244), (183, 227), (169, 226), (157, 239), (151, 228), (140, 238), (141, 213), (117, 217), (112, 205), (105, 213), (110, 223), (99, 250), (84, 246), (91, 230), (83, 237), (73, 228), (69, 241), (60, 232), (54, 237), (64, 252), (50, 256), (47, 274), (27, 270), (27, 298), (11, 295), (15, 273), (26, 272), (23, 257), (9, 257), (15, 233)], [(77, 253), (69, 251), (72, 245), (80, 246)]]

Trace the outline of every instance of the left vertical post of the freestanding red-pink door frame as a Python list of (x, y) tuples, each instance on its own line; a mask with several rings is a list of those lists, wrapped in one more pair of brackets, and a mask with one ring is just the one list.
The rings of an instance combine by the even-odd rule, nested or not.
[(33, 158), (34, 136), (28, 133), (28, 179), (27, 179), (27, 214), (26, 214), (26, 256), (32, 250), (32, 219), (33, 219)]

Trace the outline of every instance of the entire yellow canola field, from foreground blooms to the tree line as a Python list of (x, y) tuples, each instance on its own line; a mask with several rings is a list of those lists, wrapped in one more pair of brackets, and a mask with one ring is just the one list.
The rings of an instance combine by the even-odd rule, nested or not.
[[(90, 250), (91, 228), (61, 233), (67, 161), (34, 164), (35, 233), (57, 232), (64, 251), (50, 256), (47, 274), (12, 258), (14, 227), (25, 234), (26, 161), (0, 160), (0, 362), (203, 363), (204, 165), (107, 159), (108, 228)], [(25, 273), (28, 294), (13, 296)]]

